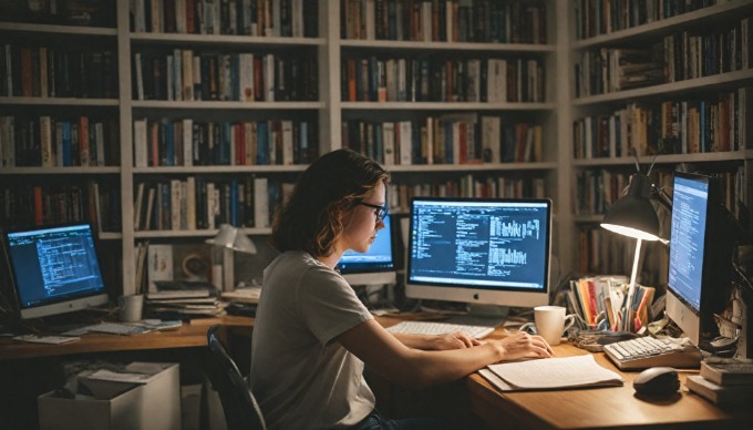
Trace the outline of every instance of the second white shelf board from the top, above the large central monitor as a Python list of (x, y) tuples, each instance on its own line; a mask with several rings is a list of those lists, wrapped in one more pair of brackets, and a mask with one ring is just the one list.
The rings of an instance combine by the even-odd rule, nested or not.
[(529, 102), (341, 102), (343, 110), (353, 111), (551, 111), (555, 103)]

